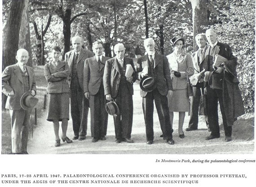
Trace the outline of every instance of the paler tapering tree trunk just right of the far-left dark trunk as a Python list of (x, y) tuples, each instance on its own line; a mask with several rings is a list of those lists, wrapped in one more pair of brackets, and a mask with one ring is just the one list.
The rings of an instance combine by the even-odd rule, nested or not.
[(32, 52), (30, 42), (30, 29), (29, 29), (29, 13), (28, 13), (28, 0), (25, 0), (25, 7), (22, 13), (21, 28), (19, 33), (19, 49), (23, 48), (28, 51), (30, 58), (27, 61), (27, 65), (32, 67)]

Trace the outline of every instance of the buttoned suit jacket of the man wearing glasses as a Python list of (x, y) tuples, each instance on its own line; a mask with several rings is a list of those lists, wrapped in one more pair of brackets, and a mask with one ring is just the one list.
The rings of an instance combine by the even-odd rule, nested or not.
[(108, 59), (110, 58), (102, 56), (100, 67), (95, 56), (85, 60), (84, 93), (89, 92), (90, 95), (95, 95), (98, 93), (101, 82), (103, 81), (103, 74), (104, 74), (104, 67), (106, 64), (106, 60)]

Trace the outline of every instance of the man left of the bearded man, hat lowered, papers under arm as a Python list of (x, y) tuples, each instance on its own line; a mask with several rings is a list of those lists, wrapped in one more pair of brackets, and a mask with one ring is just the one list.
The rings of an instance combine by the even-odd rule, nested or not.
[[(112, 98), (119, 107), (120, 114), (114, 116), (115, 124), (115, 143), (131, 140), (132, 117), (133, 117), (133, 82), (136, 81), (135, 68), (132, 59), (124, 57), (124, 44), (118, 43), (114, 47), (116, 56), (106, 61), (103, 84), (107, 100)], [(125, 76), (126, 68), (130, 64), (133, 74), (130, 77)]]

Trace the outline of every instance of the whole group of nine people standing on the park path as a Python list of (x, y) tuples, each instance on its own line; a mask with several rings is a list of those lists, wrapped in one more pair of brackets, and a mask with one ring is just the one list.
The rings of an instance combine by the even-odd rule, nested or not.
[[(87, 135), (88, 108), (91, 114), (92, 142), (106, 140), (108, 113), (106, 105), (110, 102), (117, 106), (114, 112), (115, 143), (122, 141), (133, 143), (131, 139), (133, 119), (133, 83), (140, 80), (142, 109), (146, 125), (146, 143), (153, 144), (153, 111), (154, 102), (159, 116), (163, 140), (168, 144), (174, 144), (173, 112), (179, 112), (178, 133), (184, 138), (183, 123), (185, 112), (190, 110), (190, 122), (186, 131), (198, 128), (199, 100), (201, 94), (206, 95), (207, 115), (205, 116), (208, 131), (211, 132), (206, 140), (220, 137), (218, 123), (218, 101), (225, 130), (225, 141), (231, 141), (232, 125), (234, 120), (244, 114), (243, 101), (238, 88), (236, 74), (237, 59), (232, 55), (229, 45), (217, 41), (215, 30), (208, 29), (206, 34), (198, 34), (196, 43), (199, 50), (192, 57), (183, 51), (185, 38), (176, 36), (170, 40), (174, 51), (168, 55), (157, 54), (154, 50), (155, 43), (152, 38), (144, 40), (146, 55), (137, 59), (137, 69), (133, 60), (125, 57), (125, 47), (118, 43), (114, 47), (116, 56), (108, 58), (103, 56), (103, 43), (93, 43), (93, 52), (82, 48), (82, 38), (72, 38), (73, 50), (65, 54), (65, 60), (61, 61), (60, 47), (53, 47), (52, 61), (44, 66), (44, 76), (48, 81), (48, 115), (47, 120), (53, 122), (55, 133), (55, 146), (61, 145), (59, 137), (59, 122), (62, 122), (61, 139), (72, 143), (66, 136), (69, 120), (69, 102), (71, 104), (71, 118), (73, 124), (73, 140), (84, 140)], [(209, 46), (206, 46), (208, 41)], [(19, 57), (21, 52), (26, 53)], [(94, 54), (93, 54), (94, 53)], [(24, 55), (24, 54), (23, 54)], [(216, 63), (216, 57), (220, 55), (223, 60)], [(19, 64), (26, 65), (28, 53), (24, 49), (17, 52), (18, 63), (7, 67), (2, 76), (2, 91), (8, 95), (7, 108), (22, 110), (19, 107), (10, 108), (12, 105), (14, 83), (12, 81)], [(22, 60), (19, 60), (19, 59)], [(219, 59), (218, 59), (219, 60)], [(12, 68), (15, 67), (15, 68)], [(29, 67), (26, 67), (30, 70)], [(132, 73), (127, 76), (127, 68)], [(13, 70), (12, 70), (13, 69)], [(28, 90), (35, 95), (34, 73), (28, 74)], [(216, 76), (217, 75), (217, 76)], [(187, 92), (188, 77), (195, 80), (193, 87), (194, 97), (191, 97), (191, 107)], [(23, 80), (24, 81), (24, 80)], [(22, 82), (22, 81), (21, 81)], [(23, 82), (24, 87), (24, 82)], [(22, 87), (22, 90), (23, 90)], [(24, 89), (25, 90), (25, 89)], [(15, 91), (14, 91), (15, 94)], [(70, 99), (69, 99), (70, 98)], [(18, 126), (18, 133), (12, 129), (14, 139), (21, 138), (22, 126), (27, 126), (27, 120), (21, 123), (15, 121), (12, 115), (12, 127)], [(23, 117), (24, 118), (24, 117)], [(16, 125), (15, 125), (16, 124)], [(15, 130), (16, 131), (16, 130)], [(22, 133), (23, 134), (23, 133)], [(25, 133), (26, 134), (26, 133)], [(22, 140), (27, 139), (27, 136)], [(22, 141), (21, 140), (21, 144)], [(12, 142), (13, 148), (15, 142)], [(17, 144), (16, 144), (17, 147)], [(23, 148), (24, 147), (24, 148)], [(26, 152), (26, 142), (22, 149), (13, 149), (13, 153)]]

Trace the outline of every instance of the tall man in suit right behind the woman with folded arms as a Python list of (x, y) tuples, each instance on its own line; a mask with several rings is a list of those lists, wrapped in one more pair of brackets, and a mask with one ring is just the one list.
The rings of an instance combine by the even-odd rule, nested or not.
[(70, 104), (73, 131), (73, 140), (84, 140), (87, 134), (87, 118), (89, 101), (84, 97), (84, 62), (93, 57), (93, 52), (82, 48), (83, 39), (79, 36), (72, 38), (74, 50), (65, 54), (65, 62), (70, 67)]

